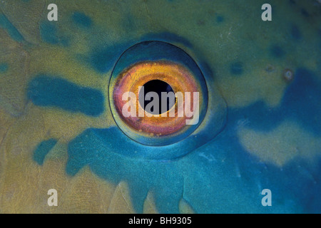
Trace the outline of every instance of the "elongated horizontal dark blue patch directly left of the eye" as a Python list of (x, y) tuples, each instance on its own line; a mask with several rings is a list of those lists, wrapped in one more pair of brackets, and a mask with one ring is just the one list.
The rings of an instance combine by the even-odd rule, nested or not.
[(58, 107), (72, 113), (98, 116), (104, 110), (101, 91), (46, 75), (36, 76), (29, 83), (27, 96), (35, 105)]

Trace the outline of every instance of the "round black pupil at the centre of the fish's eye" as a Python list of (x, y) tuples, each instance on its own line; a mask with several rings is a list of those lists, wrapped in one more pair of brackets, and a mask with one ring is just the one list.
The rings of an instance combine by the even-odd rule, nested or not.
[[(145, 83), (144, 87), (144, 97), (142, 98), (142, 94), (140, 94), (139, 97), (139, 103), (141, 105), (141, 107), (144, 108), (144, 110), (146, 110), (146, 105), (148, 105), (148, 103), (153, 102), (153, 98), (151, 98), (151, 100), (146, 100), (144, 98), (146, 98), (146, 94), (149, 92), (156, 92), (158, 94), (158, 101), (159, 101), (159, 105), (158, 105), (158, 110), (156, 108), (154, 108), (154, 105), (152, 106), (151, 110), (146, 110), (148, 113), (151, 113), (153, 115), (159, 115), (161, 113), (165, 113), (168, 110), (170, 110), (170, 108), (173, 107), (173, 105), (175, 105), (175, 97), (173, 99), (170, 98), (166, 98), (165, 100), (162, 100), (162, 92), (165, 93), (170, 93), (173, 92), (174, 90), (173, 88), (171, 88), (170, 85), (168, 85), (168, 83), (165, 83), (165, 81), (161, 81), (161, 80), (152, 80), (152, 81), (148, 81), (147, 83)], [(166, 110), (162, 111), (161, 109), (161, 104), (162, 103), (166, 103)], [(156, 104), (156, 103), (155, 103)]]

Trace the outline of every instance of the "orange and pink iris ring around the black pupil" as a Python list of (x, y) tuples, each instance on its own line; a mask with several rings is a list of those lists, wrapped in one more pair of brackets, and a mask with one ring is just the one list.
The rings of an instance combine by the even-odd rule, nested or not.
[[(184, 66), (169, 61), (144, 61), (130, 66), (125, 71), (120, 73), (113, 87), (113, 103), (119, 117), (138, 134), (148, 135), (149, 137), (160, 137), (161, 135), (170, 135), (180, 132), (184, 128), (188, 128), (185, 120), (187, 117), (178, 116), (178, 105), (175, 102), (174, 117), (169, 116), (170, 110), (167, 111), (166, 117), (162, 115), (151, 115), (143, 117), (139, 113), (146, 112), (138, 102), (139, 88), (144, 86), (148, 81), (160, 80), (168, 83), (175, 93), (183, 94), (183, 103), (185, 103), (185, 92), (199, 92), (199, 97), (202, 98), (200, 86), (195, 81), (193, 74)], [(129, 100), (131, 105), (136, 106), (136, 116), (126, 117), (123, 115), (123, 107), (128, 103), (128, 100), (123, 100), (123, 93), (132, 92), (136, 95), (136, 100)], [(190, 107), (193, 107), (193, 97), (190, 99)], [(203, 100), (199, 100), (202, 105)], [(183, 104), (185, 105), (185, 104)], [(173, 109), (172, 108), (172, 109)], [(183, 108), (183, 107), (182, 107)]]

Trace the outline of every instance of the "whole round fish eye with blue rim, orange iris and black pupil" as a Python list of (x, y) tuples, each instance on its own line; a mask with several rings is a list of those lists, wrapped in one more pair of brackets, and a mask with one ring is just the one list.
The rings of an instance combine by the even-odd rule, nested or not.
[(109, 98), (118, 127), (143, 145), (183, 140), (199, 127), (208, 108), (208, 88), (197, 63), (161, 41), (138, 43), (121, 55)]

